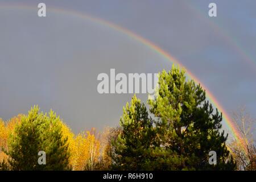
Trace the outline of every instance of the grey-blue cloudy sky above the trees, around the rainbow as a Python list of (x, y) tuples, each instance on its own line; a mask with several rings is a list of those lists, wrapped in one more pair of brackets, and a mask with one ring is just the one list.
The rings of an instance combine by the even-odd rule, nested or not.
[[(40, 2), (46, 17), (38, 17)], [(210, 2), (217, 17), (208, 16)], [(98, 74), (170, 70), (172, 63), (141, 42), (76, 11), (150, 40), (199, 78), (230, 117), (246, 106), (256, 118), (255, 7), (246, 0), (0, 0), (0, 117), (39, 105), (75, 133), (103, 130), (118, 125), (133, 94), (99, 94)], [(146, 102), (147, 94), (138, 97)]]

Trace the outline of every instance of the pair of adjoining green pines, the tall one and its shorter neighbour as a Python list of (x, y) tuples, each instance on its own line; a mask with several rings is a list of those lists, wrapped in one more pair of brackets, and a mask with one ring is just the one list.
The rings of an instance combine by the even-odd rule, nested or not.
[[(113, 168), (123, 170), (233, 170), (221, 131), (222, 115), (206, 101), (205, 90), (173, 66), (159, 75), (159, 93), (148, 100), (150, 113), (136, 96), (123, 109), (121, 132), (113, 140)], [(209, 152), (216, 151), (216, 164)]]

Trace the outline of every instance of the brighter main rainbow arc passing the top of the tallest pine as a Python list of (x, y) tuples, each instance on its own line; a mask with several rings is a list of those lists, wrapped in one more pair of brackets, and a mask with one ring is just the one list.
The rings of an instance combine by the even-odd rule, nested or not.
[[(0, 5), (0, 9), (2, 8), (10, 8), (10, 9), (27, 9), (27, 10), (38, 10), (37, 6), (35, 7), (31, 7), (31, 6), (25, 6), (25, 5), (19, 5), (19, 4), (15, 4), (15, 5)], [(159, 46), (157, 46), (156, 44), (150, 42), (150, 40), (144, 39), (142, 36), (139, 36), (137, 34), (135, 34), (134, 32), (127, 30), (126, 28), (120, 27), (117, 24), (114, 24), (112, 22), (108, 22), (104, 19), (100, 19), (100, 18), (96, 18), (84, 13), (80, 13), (78, 11), (72, 11), (72, 10), (64, 10), (64, 9), (56, 9), (56, 8), (50, 8), (47, 7), (47, 11), (52, 11), (54, 13), (60, 13), (60, 14), (71, 14), (73, 16), (77, 16), (77, 18), (81, 18), (81, 19), (86, 19), (86, 20), (90, 20), (94, 23), (99, 23), (102, 24), (103, 26), (112, 28), (115, 31), (118, 31), (126, 36), (129, 36), (129, 38), (132, 38), (134, 40), (136, 40), (139, 43), (142, 43), (144, 46), (150, 48), (152, 51), (154, 51), (155, 53), (157, 53), (158, 55), (162, 56), (164, 59), (170, 61), (171, 63), (177, 64), (180, 67), (184, 67), (184, 65), (182, 65), (180, 63), (180, 61), (178, 61), (177, 59), (175, 59), (174, 56), (171, 56), (168, 52), (164, 51), (162, 48), (160, 48)], [(228, 126), (228, 129), (230, 129), (230, 133), (233, 135), (234, 139), (236, 139), (237, 141), (239, 141), (240, 143), (242, 142), (242, 137), (240, 135), (240, 133), (238, 132), (236, 126), (234, 125), (234, 123), (232, 122), (232, 119), (229, 117), (229, 114), (224, 110), (224, 108), (221, 106), (220, 102), (217, 101), (217, 99), (213, 96), (213, 94), (210, 92), (210, 90), (200, 82), (200, 80), (193, 75), (190, 71), (187, 70), (187, 76), (192, 78), (195, 82), (200, 83), (202, 88), (205, 89), (206, 93), (207, 93), (207, 97), (209, 98), (210, 102), (218, 108), (218, 110), (220, 110), (222, 112), (222, 117), (224, 119), (224, 122), (226, 123), (226, 125)]]

